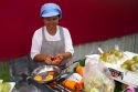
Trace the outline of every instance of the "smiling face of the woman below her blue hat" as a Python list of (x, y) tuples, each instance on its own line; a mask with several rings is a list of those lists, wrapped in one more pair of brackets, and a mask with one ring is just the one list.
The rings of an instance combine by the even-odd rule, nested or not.
[(59, 16), (43, 18), (44, 24), (49, 28), (56, 27), (59, 24)]

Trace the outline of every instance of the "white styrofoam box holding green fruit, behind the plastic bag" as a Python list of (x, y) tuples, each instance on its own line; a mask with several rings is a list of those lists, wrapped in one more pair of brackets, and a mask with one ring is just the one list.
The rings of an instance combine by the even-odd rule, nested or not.
[[(104, 64), (107, 68), (112, 68), (112, 69), (115, 69), (115, 70), (120, 71), (120, 72), (124, 73), (123, 80), (113, 78), (114, 80), (117, 80), (119, 82), (123, 82), (123, 83), (126, 83), (126, 84), (130, 84), (130, 85), (134, 85), (134, 86), (138, 88), (138, 73), (135, 73), (135, 72), (131, 72), (131, 71), (128, 71), (128, 70), (124, 70), (124, 69), (120, 68), (121, 63), (124, 63), (128, 59), (131, 59), (134, 55), (138, 55), (138, 54), (129, 52), (129, 51), (125, 51), (124, 54), (125, 54), (124, 59), (121, 59), (120, 61), (118, 61), (118, 63), (115, 63), (115, 64), (113, 64), (113, 63), (112, 64), (110, 63), (104, 63)], [(86, 55), (85, 63), (87, 61), (91, 61), (92, 59), (99, 60), (99, 54)]]

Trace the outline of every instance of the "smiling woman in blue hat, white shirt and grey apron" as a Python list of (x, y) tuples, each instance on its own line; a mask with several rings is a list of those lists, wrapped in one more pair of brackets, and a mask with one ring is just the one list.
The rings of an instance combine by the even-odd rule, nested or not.
[(41, 65), (67, 65), (74, 49), (68, 30), (59, 25), (61, 8), (55, 3), (45, 3), (41, 8), (41, 18), (44, 27), (34, 32), (31, 58)]

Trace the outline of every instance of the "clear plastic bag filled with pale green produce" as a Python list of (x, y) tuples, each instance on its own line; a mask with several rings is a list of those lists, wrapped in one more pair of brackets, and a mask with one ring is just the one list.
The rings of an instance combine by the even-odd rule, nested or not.
[(83, 70), (85, 92), (114, 92), (115, 83), (110, 73), (98, 59), (92, 58)]

